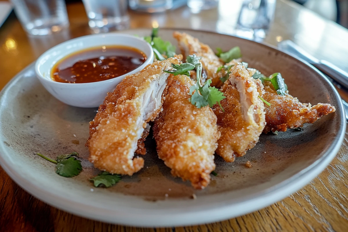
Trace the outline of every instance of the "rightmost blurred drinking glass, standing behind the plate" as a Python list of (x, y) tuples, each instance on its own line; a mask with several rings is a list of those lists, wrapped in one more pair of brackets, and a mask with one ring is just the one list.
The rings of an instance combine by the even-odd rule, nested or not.
[(274, 17), (276, 0), (244, 0), (240, 9), (236, 35), (262, 41)]

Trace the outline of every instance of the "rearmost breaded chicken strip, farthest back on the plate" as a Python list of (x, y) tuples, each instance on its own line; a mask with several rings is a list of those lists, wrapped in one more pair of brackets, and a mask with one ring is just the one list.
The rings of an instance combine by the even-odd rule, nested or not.
[(203, 75), (201, 83), (203, 84), (207, 78), (212, 79), (211, 86), (219, 88), (222, 85), (220, 80), (223, 77), (224, 72), (216, 73), (217, 68), (222, 66), (224, 63), (220, 61), (214, 51), (206, 44), (199, 42), (198, 39), (193, 38), (191, 35), (186, 33), (174, 32), (174, 38), (179, 43), (179, 48), (184, 58), (188, 55), (196, 54), (201, 56), (200, 62), (203, 66)]

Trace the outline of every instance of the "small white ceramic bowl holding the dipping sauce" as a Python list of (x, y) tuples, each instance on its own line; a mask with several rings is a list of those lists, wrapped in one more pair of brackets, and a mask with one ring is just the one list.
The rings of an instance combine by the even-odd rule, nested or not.
[[(127, 46), (142, 51), (147, 59), (136, 69), (109, 80), (89, 83), (63, 83), (52, 80), (51, 71), (62, 58), (80, 50), (102, 46)], [(61, 102), (77, 107), (98, 107), (126, 75), (139, 72), (153, 62), (151, 45), (142, 38), (127, 34), (107, 33), (86, 35), (60, 43), (42, 54), (35, 63), (35, 72), (47, 91)], [(72, 64), (71, 64), (72, 65)]]

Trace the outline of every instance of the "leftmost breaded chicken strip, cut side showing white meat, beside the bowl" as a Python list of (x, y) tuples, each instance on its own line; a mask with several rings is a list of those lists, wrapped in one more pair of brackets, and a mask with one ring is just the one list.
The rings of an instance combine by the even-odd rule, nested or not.
[(142, 71), (128, 75), (104, 103), (89, 126), (89, 161), (98, 169), (132, 175), (144, 166), (143, 158), (134, 158), (138, 140), (147, 122), (155, 119), (161, 109), (161, 95), (166, 87), (171, 64), (169, 58), (149, 64)]

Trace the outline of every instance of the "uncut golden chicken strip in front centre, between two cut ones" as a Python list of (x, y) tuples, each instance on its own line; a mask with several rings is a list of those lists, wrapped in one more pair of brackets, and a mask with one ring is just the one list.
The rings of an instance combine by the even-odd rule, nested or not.
[(215, 169), (214, 151), (220, 133), (209, 106), (198, 109), (189, 102), (194, 82), (185, 75), (171, 75), (163, 93), (163, 111), (153, 125), (159, 158), (173, 176), (189, 180), (195, 189), (210, 182)]

